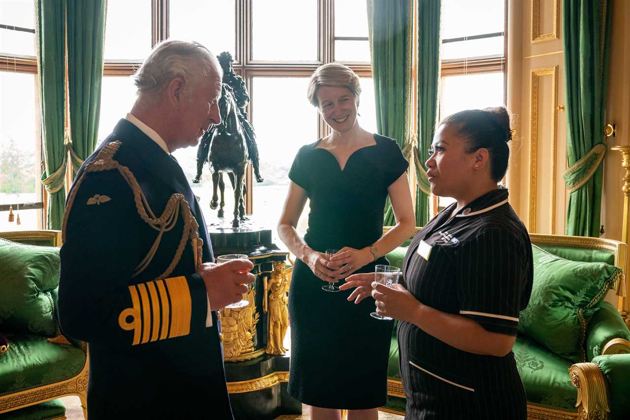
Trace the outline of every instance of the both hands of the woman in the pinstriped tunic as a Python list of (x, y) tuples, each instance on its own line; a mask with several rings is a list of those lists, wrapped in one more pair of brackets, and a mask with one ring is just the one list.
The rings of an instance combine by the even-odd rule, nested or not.
[(372, 296), (376, 304), (376, 313), (392, 317), (400, 321), (410, 321), (419, 310), (421, 303), (403, 285), (387, 287), (374, 281), (374, 273), (355, 274), (349, 276), (340, 290), (354, 288), (348, 300), (358, 304), (368, 296)]

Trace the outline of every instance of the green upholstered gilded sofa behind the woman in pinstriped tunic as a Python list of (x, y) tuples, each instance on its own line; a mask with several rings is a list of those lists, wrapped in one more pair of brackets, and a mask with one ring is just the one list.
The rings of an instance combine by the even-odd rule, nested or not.
[[(539, 234), (531, 234), (530, 239), (539, 248), (534, 253), (535, 259), (542, 254), (542, 249), (570, 261), (626, 266), (623, 242)], [(391, 264), (401, 266), (407, 244), (387, 254)], [(617, 278), (624, 279), (623, 276)], [(534, 283), (536, 285), (536, 273)], [(523, 316), (522, 313), (521, 318)], [(583, 346), (575, 349), (576, 354), (581, 355), (579, 363), (554, 353), (519, 331), (513, 352), (527, 394), (529, 419), (630, 419), (630, 331), (609, 302), (594, 305), (585, 321)], [(537, 327), (541, 327), (540, 323)], [(391, 341), (387, 385), (389, 400), (384, 411), (404, 412), (396, 329)]]

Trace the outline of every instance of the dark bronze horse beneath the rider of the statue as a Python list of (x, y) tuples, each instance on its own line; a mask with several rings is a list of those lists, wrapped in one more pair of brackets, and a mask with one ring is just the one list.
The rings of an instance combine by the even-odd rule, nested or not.
[[(221, 87), (219, 112), (221, 113), (221, 123), (216, 125), (214, 130), (210, 130), (207, 133), (209, 139), (202, 139), (202, 141), (208, 140), (210, 142), (210, 150), (207, 157), (207, 162), (210, 163), (210, 171), (212, 171), (212, 200), (210, 201), (210, 208), (214, 210), (219, 206), (218, 216), (224, 217), (225, 184), (223, 182), (223, 173), (227, 172), (232, 188), (234, 188), (234, 219), (232, 220), (232, 227), (239, 227), (240, 222), (245, 220), (243, 196), (246, 193), (246, 188), (244, 174), (249, 155), (243, 135), (243, 127), (241, 127), (236, 114), (234, 93), (232, 93), (232, 88), (225, 83)], [(217, 196), (217, 186), (219, 186), (221, 191), (221, 203), (219, 203), (219, 197)]]

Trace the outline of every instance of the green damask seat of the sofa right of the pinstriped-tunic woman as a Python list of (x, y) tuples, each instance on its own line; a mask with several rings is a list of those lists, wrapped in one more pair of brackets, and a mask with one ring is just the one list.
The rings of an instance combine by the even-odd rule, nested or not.
[(554, 355), (524, 336), (518, 336), (513, 352), (528, 402), (577, 412), (577, 392), (569, 377), (573, 362)]

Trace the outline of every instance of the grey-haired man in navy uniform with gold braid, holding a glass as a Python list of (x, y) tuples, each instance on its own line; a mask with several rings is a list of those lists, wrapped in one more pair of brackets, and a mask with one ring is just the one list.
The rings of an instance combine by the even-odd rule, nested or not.
[(216, 311), (241, 299), (253, 264), (211, 263), (202, 212), (170, 155), (221, 122), (221, 77), (202, 45), (158, 44), (135, 74), (132, 110), (72, 185), (59, 321), (89, 345), (90, 420), (232, 419)]

